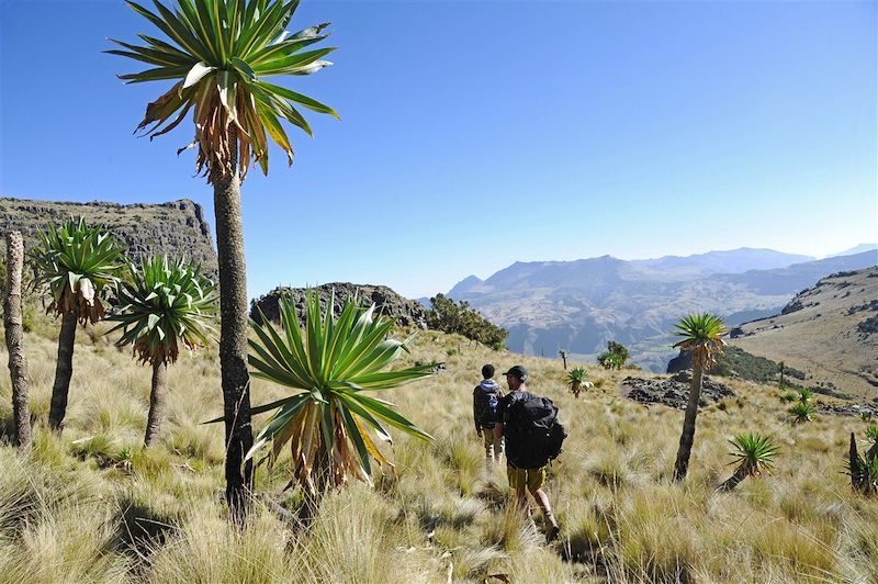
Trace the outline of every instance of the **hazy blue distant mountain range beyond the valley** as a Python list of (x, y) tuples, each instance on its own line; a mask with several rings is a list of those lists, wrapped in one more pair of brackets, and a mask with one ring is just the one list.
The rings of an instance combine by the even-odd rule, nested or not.
[(470, 276), (448, 295), (507, 328), (513, 351), (550, 357), (565, 349), (590, 359), (617, 340), (635, 362), (663, 371), (674, 356), (668, 332), (677, 317), (710, 311), (739, 325), (778, 313), (833, 272), (876, 265), (876, 249), (821, 260), (741, 248), (631, 261), (517, 261), (486, 280)]

